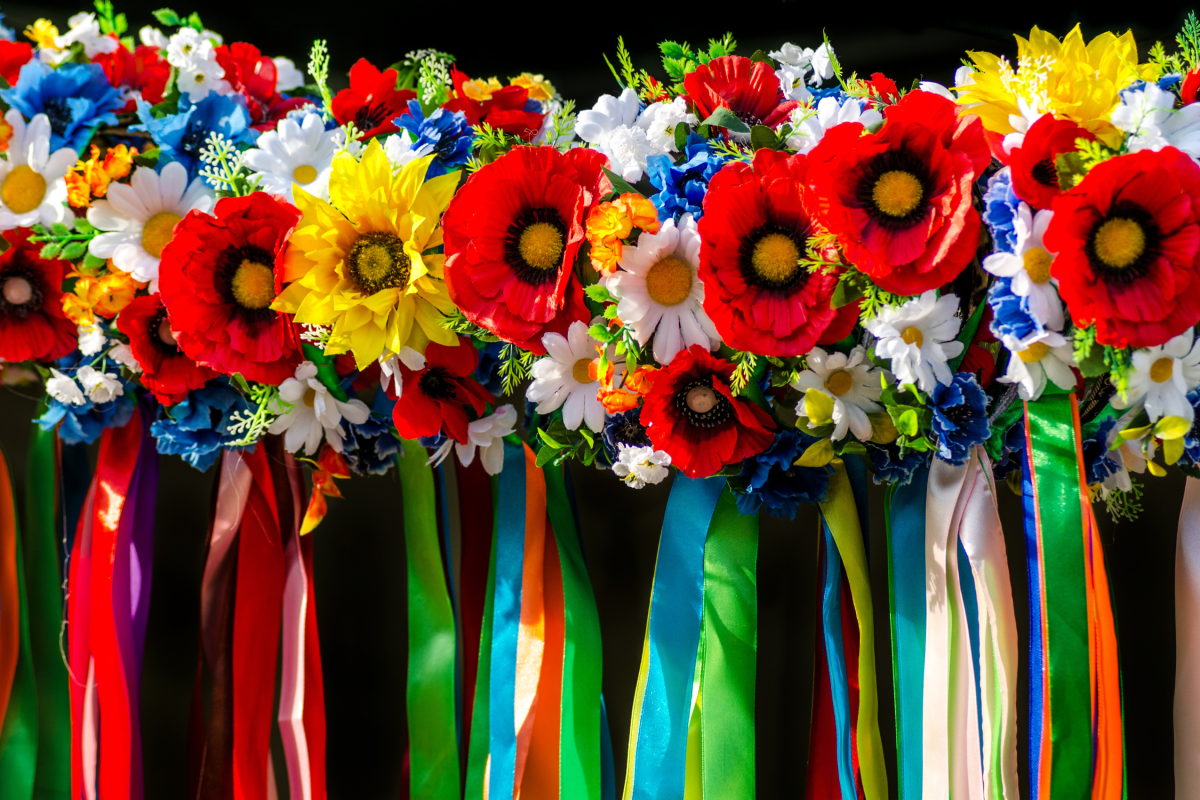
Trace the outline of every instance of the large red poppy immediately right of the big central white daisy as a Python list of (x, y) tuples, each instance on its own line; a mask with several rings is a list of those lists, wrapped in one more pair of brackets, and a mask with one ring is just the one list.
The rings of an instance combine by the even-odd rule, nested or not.
[(708, 185), (700, 279), (704, 311), (732, 348), (802, 355), (854, 327), (858, 306), (830, 305), (838, 276), (800, 266), (814, 230), (800, 197), (806, 173), (804, 156), (763, 149)]

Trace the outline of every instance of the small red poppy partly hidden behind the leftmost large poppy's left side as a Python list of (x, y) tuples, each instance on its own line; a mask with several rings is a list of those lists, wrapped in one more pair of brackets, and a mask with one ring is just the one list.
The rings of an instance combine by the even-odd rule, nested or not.
[(130, 349), (142, 367), (142, 385), (163, 405), (181, 402), (187, 392), (217, 377), (179, 349), (158, 295), (134, 297), (116, 318), (116, 329), (130, 337)]

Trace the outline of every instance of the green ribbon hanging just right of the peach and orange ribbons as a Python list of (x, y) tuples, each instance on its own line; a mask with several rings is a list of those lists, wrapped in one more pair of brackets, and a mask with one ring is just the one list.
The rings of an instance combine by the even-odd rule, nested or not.
[[(545, 467), (546, 512), (563, 571), (565, 642), (559, 796), (600, 798), (600, 616), (588, 581), (562, 467)], [(751, 675), (754, 673), (751, 672)]]

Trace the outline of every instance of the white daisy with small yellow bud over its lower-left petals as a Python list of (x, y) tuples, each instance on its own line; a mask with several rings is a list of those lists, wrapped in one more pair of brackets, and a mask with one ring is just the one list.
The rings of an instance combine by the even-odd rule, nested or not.
[[(883, 410), (877, 402), (883, 386), (880, 380), (881, 371), (871, 365), (866, 350), (859, 344), (846, 355), (826, 353), (816, 347), (809, 353), (806, 362), (809, 368), (797, 375), (792, 386), (800, 392), (815, 389), (833, 401), (832, 439), (841, 439), (847, 429), (860, 441), (870, 439), (871, 421), (866, 415)], [(803, 416), (803, 399), (797, 404), (796, 413)], [(809, 422), (809, 427), (818, 426)]]

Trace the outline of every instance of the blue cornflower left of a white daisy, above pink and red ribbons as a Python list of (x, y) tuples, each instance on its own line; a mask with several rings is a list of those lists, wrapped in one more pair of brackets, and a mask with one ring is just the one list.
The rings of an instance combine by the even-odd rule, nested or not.
[(184, 461), (204, 471), (221, 455), (221, 449), (239, 437), (229, 433), (229, 416), (252, 411), (250, 403), (224, 380), (197, 389), (169, 409), (160, 405), (150, 433), (158, 452), (182, 456)]

